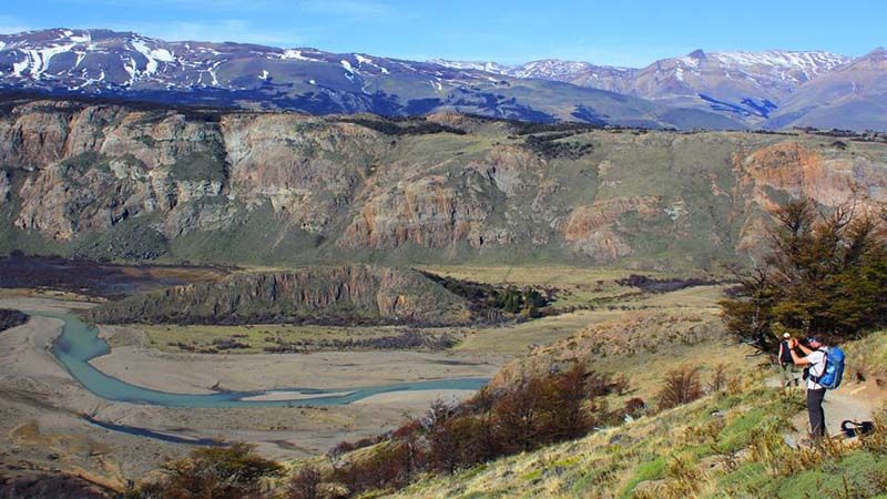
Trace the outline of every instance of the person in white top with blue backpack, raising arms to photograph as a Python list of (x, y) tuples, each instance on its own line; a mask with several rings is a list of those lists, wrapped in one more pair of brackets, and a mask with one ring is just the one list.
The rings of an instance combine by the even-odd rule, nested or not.
[[(806, 346), (792, 338), (788, 340), (788, 347), (794, 364), (806, 366), (804, 379), (807, 381), (807, 416), (810, 420), (810, 436), (814, 440), (823, 438), (825, 437), (823, 400), (826, 389), (835, 389), (840, 386), (840, 378), (844, 374), (844, 352), (838, 347), (826, 347), (819, 335), (808, 337)], [(795, 348), (799, 348), (805, 356), (799, 357)]]

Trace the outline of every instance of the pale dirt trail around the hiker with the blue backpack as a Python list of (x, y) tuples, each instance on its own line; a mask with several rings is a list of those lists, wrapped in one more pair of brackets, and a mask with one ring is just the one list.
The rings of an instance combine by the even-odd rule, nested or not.
[[(799, 376), (799, 374), (798, 374)], [(767, 386), (773, 388), (782, 387), (782, 377), (773, 376), (767, 379)], [(806, 388), (804, 381), (801, 386), (793, 388), (792, 391), (799, 399), (804, 399)], [(887, 393), (878, 388), (874, 383), (858, 384), (848, 383), (842, 385), (837, 390), (829, 390), (825, 395), (823, 407), (825, 408), (825, 424), (828, 435), (840, 435), (840, 424), (845, 420), (870, 421), (877, 409), (887, 401)], [(808, 419), (807, 411), (799, 413), (792, 419), (797, 431), (789, 437), (794, 441), (801, 441), (807, 436)]]

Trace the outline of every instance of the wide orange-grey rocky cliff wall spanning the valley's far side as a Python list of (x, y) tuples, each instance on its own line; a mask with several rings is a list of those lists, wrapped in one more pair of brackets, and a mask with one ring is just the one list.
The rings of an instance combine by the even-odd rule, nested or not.
[(7, 103), (0, 251), (710, 266), (743, 258), (766, 212), (791, 196), (826, 207), (887, 201), (884, 143), (527, 132), (447, 114)]

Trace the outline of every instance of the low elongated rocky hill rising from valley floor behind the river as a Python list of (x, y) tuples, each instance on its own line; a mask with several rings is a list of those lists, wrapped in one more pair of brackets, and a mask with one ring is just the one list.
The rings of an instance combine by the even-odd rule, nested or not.
[(416, 271), (355, 265), (235, 274), (221, 283), (136, 295), (90, 310), (104, 324), (308, 320), (462, 325), (469, 304)]

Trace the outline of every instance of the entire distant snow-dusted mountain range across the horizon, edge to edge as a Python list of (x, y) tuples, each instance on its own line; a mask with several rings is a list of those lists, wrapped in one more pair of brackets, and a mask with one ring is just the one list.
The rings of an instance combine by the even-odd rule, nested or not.
[(642, 69), (560, 60), (509, 67), (53, 29), (0, 35), (0, 89), (313, 114), (887, 130), (884, 49), (858, 59), (697, 50)]

